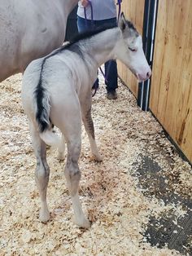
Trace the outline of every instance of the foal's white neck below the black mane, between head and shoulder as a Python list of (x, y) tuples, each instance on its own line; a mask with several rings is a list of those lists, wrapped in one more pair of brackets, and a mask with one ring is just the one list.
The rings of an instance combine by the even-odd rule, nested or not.
[(118, 27), (107, 29), (90, 38), (89, 45), (85, 46), (84, 51), (91, 55), (97, 62), (98, 67), (100, 67), (108, 60), (116, 58), (114, 49), (118, 38), (120, 38), (120, 29)]

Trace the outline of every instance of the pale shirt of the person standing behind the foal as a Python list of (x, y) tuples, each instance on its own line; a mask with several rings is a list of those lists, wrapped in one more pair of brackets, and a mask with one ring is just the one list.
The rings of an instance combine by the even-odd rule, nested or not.
[[(93, 7), (93, 20), (107, 20), (116, 18), (116, 3), (115, 0), (89, 0)], [(91, 20), (91, 8), (86, 7), (87, 20)], [(81, 1), (78, 3), (77, 15), (85, 19), (84, 7)]]

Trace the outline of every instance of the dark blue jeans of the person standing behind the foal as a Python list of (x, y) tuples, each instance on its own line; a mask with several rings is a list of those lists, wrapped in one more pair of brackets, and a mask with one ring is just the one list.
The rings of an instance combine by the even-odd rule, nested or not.
[[(108, 20), (85, 20), (77, 16), (77, 28), (80, 33), (90, 29), (97, 29), (103, 25), (116, 25), (116, 18)], [(107, 78), (107, 82), (105, 82), (107, 91), (116, 90), (118, 87), (116, 60), (109, 60), (105, 63), (105, 74)], [(94, 86), (98, 86), (98, 79)]]

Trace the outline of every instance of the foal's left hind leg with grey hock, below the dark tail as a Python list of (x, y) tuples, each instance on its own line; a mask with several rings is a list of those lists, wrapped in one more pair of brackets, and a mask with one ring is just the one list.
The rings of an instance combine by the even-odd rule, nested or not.
[(33, 138), (33, 149), (37, 157), (37, 167), (35, 172), (35, 180), (41, 198), (41, 210), (39, 219), (42, 223), (46, 223), (50, 218), (50, 213), (46, 203), (46, 189), (49, 182), (50, 168), (46, 162), (46, 143), (44, 143), (36, 127), (30, 124), (30, 132)]

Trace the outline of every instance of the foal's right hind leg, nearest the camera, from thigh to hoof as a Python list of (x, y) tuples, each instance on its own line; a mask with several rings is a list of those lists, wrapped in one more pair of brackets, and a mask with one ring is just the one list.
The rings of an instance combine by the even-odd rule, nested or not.
[[(83, 213), (78, 195), (78, 188), (81, 179), (81, 171), (78, 160), (81, 154), (81, 106), (75, 90), (72, 89), (71, 81), (66, 80), (67, 93), (56, 95), (52, 99), (50, 119), (62, 132), (68, 147), (67, 162), (64, 168), (68, 191), (72, 198), (72, 207), (75, 215), (75, 222), (80, 227), (89, 227), (90, 223)], [(62, 86), (63, 88), (63, 86)], [(61, 91), (63, 89), (61, 88)], [(58, 90), (59, 91), (59, 90)], [(59, 104), (58, 104), (59, 101)]]

